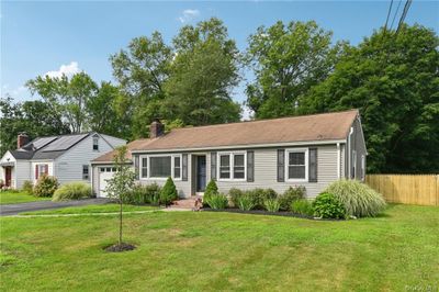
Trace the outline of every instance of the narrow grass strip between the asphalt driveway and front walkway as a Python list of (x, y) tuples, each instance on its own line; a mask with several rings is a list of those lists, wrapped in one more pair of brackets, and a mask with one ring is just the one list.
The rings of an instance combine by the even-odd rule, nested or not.
[[(126, 212), (148, 211), (157, 209), (158, 209), (157, 206), (123, 205), (123, 210)], [(20, 215), (111, 213), (111, 212), (119, 212), (119, 210), (120, 210), (119, 204), (103, 204), (103, 205), (87, 205), (87, 206), (69, 206), (63, 209), (25, 212), (21, 213)]]

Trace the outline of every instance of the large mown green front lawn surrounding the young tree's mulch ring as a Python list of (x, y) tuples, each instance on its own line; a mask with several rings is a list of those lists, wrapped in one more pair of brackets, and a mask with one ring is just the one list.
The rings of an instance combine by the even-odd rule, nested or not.
[(439, 209), (346, 222), (216, 212), (1, 217), (2, 291), (437, 291)]

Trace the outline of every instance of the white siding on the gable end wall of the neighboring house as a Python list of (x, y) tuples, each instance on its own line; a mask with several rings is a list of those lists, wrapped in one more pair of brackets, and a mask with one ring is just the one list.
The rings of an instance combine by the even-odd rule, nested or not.
[(93, 138), (92, 135), (90, 135), (55, 160), (54, 173), (59, 183), (70, 181), (85, 181), (91, 183), (91, 167), (89, 168), (90, 180), (86, 181), (82, 180), (82, 166), (90, 166), (91, 160), (113, 150), (114, 147), (124, 144), (125, 142), (110, 145), (108, 142), (100, 138), (99, 150), (93, 150)]

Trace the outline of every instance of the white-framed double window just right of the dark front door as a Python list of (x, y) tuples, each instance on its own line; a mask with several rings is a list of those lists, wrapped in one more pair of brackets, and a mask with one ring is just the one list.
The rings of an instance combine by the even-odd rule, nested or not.
[(219, 153), (218, 161), (219, 180), (246, 179), (245, 153)]

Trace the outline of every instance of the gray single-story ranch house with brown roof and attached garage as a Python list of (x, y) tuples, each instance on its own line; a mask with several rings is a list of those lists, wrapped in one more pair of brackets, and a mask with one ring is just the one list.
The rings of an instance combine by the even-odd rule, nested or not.
[[(150, 137), (128, 144), (137, 182), (162, 186), (172, 177), (181, 198), (203, 194), (211, 179), (221, 192), (230, 188), (283, 192), (304, 186), (306, 195), (314, 198), (333, 181), (365, 177), (367, 149), (357, 110), (176, 128), (167, 134), (156, 120)], [(105, 196), (113, 155), (91, 162), (98, 196)]]

